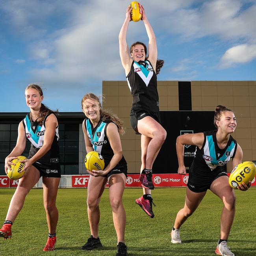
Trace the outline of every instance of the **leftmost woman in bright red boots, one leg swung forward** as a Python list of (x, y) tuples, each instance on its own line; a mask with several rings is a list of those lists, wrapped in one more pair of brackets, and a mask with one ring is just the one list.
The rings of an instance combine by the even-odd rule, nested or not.
[(26, 138), (31, 142), (31, 148), (28, 159), (21, 161), (25, 163), (22, 169), (25, 173), (20, 178), (18, 187), (11, 199), (6, 221), (0, 229), (0, 237), (11, 238), (11, 226), (22, 209), (26, 195), (43, 176), (43, 200), (49, 231), (48, 240), (43, 250), (51, 251), (54, 250), (56, 244), (56, 226), (58, 223), (56, 197), (61, 177), (58, 120), (56, 118), (58, 111), (52, 111), (42, 103), (43, 91), (36, 84), (30, 84), (26, 87), (25, 98), (30, 112), (20, 122), (17, 144), (6, 157), (6, 174), (10, 165), (15, 165), (11, 161), (23, 153), (26, 147)]

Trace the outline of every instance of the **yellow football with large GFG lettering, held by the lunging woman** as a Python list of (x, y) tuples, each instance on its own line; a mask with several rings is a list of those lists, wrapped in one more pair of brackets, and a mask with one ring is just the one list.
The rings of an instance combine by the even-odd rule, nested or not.
[(250, 161), (245, 161), (243, 163), (239, 163), (229, 176), (229, 185), (237, 189), (239, 184), (245, 183), (249, 184), (249, 181), (252, 181), (255, 177), (256, 167), (255, 164)]

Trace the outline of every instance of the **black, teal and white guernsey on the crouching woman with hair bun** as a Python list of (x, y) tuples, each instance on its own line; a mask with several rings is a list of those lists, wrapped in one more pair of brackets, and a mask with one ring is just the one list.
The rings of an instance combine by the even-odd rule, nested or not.
[(195, 159), (189, 169), (189, 173), (197, 173), (206, 177), (209, 173), (223, 171), (226, 165), (236, 154), (237, 142), (230, 135), (225, 148), (218, 147), (216, 139), (217, 130), (204, 132), (202, 148), (196, 147)]

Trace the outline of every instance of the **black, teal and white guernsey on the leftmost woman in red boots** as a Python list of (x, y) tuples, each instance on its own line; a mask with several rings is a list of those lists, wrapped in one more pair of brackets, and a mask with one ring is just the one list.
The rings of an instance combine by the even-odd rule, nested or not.
[[(36, 152), (43, 146), (44, 143), (44, 136), (45, 136), (45, 120), (50, 115), (45, 116), (42, 126), (40, 126), (37, 121), (31, 122), (30, 121), (30, 113), (26, 115), (26, 117), (22, 120), (26, 137), (31, 142), (30, 152), (28, 158), (32, 158)], [(42, 156), (36, 162), (51, 165), (52, 162), (59, 162), (59, 126), (56, 127), (54, 139), (52, 141), (51, 148), (44, 156)]]

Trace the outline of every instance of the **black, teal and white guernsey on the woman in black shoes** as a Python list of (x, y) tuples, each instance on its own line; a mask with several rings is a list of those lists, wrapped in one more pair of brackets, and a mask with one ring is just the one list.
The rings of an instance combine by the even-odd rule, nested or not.
[[(111, 148), (107, 137), (107, 126), (111, 122), (113, 121), (109, 119), (102, 121), (102, 117), (100, 117), (100, 121), (93, 128), (93, 124), (91, 123), (90, 119), (86, 118), (84, 121), (85, 129), (93, 147), (93, 150), (97, 151), (103, 156), (105, 167), (109, 164), (114, 156), (113, 149)], [(116, 166), (123, 164), (127, 164), (124, 156), (122, 156), (121, 160)]]

